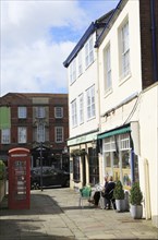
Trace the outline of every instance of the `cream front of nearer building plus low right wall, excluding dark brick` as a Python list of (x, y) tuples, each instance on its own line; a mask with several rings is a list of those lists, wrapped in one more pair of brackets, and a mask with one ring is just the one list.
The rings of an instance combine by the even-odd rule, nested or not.
[[(126, 27), (125, 24), (129, 28), (129, 31), (125, 29), (126, 43), (121, 35), (122, 28)], [(114, 175), (122, 181), (124, 181), (124, 176), (129, 175), (131, 184), (134, 180), (132, 179), (132, 167), (123, 167), (123, 157), (124, 154), (129, 154), (131, 166), (134, 151), (138, 160), (139, 183), (144, 195), (144, 217), (146, 219), (151, 217), (154, 225), (158, 227), (158, 84), (151, 85), (146, 91), (142, 88), (139, 27), (139, 1), (127, 1), (112, 27), (105, 33), (105, 38), (99, 45), (100, 132), (102, 133), (102, 136), (100, 135), (102, 140), (102, 153), (100, 154), (102, 171), (100, 173), (102, 176), (107, 172)], [(122, 53), (122, 41), (129, 55), (127, 67), (125, 67), (129, 68), (129, 71), (124, 76), (121, 71), (124, 55), (124, 52)], [(107, 49), (110, 49), (110, 58)], [(109, 69), (111, 84), (107, 79)], [(119, 131), (123, 132), (126, 124), (130, 128), (129, 132), (119, 134)], [(122, 130), (118, 131), (118, 128), (122, 128)], [(114, 130), (118, 133), (116, 131), (114, 134)], [(111, 133), (108, 139), (107, 132), (109, 131)], [(121, 139), (125, 142), (127, 136), (129, 142), (130, 137), (132, 139), (134, 147), (127, 146), (126, 142), (126, 148), (123, 149)], [(119, 145), (118, 166), (114, 165), (116, 142)], [(111, 158), (111, 165), (108, 163), (109, 158)]]

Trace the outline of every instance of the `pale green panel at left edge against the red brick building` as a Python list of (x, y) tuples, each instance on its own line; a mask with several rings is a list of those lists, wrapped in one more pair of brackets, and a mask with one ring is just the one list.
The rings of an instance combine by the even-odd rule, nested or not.
[(10, 107), (0, 107), (0, 129), (11, 128), (11, 110)]

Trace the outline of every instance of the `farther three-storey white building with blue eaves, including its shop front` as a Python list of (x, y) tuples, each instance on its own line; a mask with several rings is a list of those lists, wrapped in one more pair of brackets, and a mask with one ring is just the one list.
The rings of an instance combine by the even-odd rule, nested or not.
[(97, 134), (99, 133), (97, 36), (113, 11), (93, 22), (64, 61), (69, 79), (71, 188), (99, 182)]

